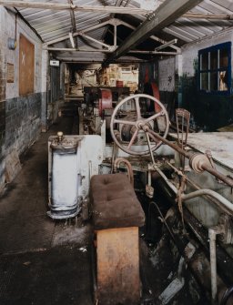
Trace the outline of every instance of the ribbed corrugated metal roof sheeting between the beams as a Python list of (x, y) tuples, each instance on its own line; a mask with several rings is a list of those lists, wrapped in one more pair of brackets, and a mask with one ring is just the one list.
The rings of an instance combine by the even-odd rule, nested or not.
[[(135, 8), (140, 7), (140, 5), (149, 7), (150, 4), (153, 7), (157, 7), (161, 5), (165, 0), (73, 0), (74, 5), (83, 6), (83, 5), (128, 5), (129, 7)], [(26, 2), (29, 2), (26, 1)], [(36, 0), (31, 0), (31, 2), (38, 2)], [(44, 3), (50, 4), (65, 4), (70, 3), (69, 0), (44, 0)], [(41, 2), (42, 3), (42, 2)], [(175, 3), (175, 0), (174, 0)], [(38, 8), (20, 8), (17, 7), (19, 13), (25, 18), (25, 20), (35, 28), (35, 31), (41, 36), (44, 43), (49, 43), (51, 41), (56, 40), (51, 46), (56, 48), (70, 48), (71, 43), (68, 39), (68, 34), (72, 30), (72, 19), (71, 19), (71, 10), (52, 10), (52, 9), (38, 9)], [(152, 7), (152, 6), (151, 6)], [(200, 38), (204, 38), (209, 35), (213, 35), (219, 33), (220, 31), (233, 26), (233, 20), (223, 20), (222, 18), (216, 19), (207, 19), (201, 15), (233, 15), (233, 1), (232, 0), (204, 0), (199, 5), (195, 6), (189, 13), (195, 13), (200, 15), (198, 18), (193, 18), (187, 15), (183, 15), (179, 17), (173, 24), (168, 25), (164, 29), (160, 31), (160, 33), (156, 33), (159, 37), (163, 36), (163, 33), (167, 33), (170, 36), (174, 36), (179, 40), (179, 46), (184, 43), (194, 42)], [(86, 28), (99, 25), (101, 20), (106, 20), (114, 16), (110, 13), (101, 13), (101, 12), (84, 12), (84, 11), (75, 11), (75, 20), (76, 20), (76, 31), (84, 31)], [(126, 20), (125, 15), (117, 15), (118, 18), (122, 18)], [(146, 17), (143, 15), (130, 15), (130, 18), (134, 25), (139, 25), (142, 21), (146, 20)], [(102, 39), (106, 35), (106, 26), (96, 28), (88, 33), (87, 36), (91, 36), (97, 41), (102, 41)], [(120, 33), (117, 35), (121, 36)], [(126, 38), (122, 36), (123, 39)], [(64, 38), (64, 39), (63, 39)], [(61, 41), (59, 41), (61, 39)], [(62, 40), (63, 39), (63, 40)], [(103, 47), (96, 43), (95, 41), (91, 41), (90, 39), (84, 36), (78, 36), (76, 38), (78, 48), (95, 48), (95, 49), (103, 49)], [(159, 43), (157, 43), (159, 45)], [(66, 60), (67, 57), (73, 61), (90, 61), (92, 60), (103, 60), (106, 57), (106, 53), (78, 53), (78, 52), (67, 52), (66, 50), (57, 51), (56, 56), (60, 59), (64, 58)], [(82, 59), (80, 57), (82, 56)]]

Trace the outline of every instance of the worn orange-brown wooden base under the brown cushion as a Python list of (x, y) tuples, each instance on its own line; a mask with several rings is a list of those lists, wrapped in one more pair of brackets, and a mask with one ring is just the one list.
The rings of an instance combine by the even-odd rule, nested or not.
[(138, 228), (98, 230), (96, 239), (98, 304), (139, 304)]

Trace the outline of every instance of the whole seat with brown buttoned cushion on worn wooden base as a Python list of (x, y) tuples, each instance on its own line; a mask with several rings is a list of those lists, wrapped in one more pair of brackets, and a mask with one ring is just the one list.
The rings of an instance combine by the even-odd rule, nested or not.
[(138, 304), (138, 227), (145, 215), (124, 174), (91, 178), (90, 201), (96, 231), (96, 299), (99, 305)]

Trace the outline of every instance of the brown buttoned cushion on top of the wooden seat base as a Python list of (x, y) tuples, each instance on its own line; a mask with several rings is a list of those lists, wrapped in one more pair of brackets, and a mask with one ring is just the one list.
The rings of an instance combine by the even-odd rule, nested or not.
[(90, 201), (94, 229), (144, 225), (144, 211), (125, 174), (93, 176), (90, 184)]

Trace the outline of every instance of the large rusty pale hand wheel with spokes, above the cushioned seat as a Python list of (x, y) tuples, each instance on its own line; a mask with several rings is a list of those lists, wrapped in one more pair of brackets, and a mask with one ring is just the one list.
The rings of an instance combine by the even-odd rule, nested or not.
[[(151, 101), (155, 103), (154, 114), (147, 113), (147, 105)], [(133, 110), (126, 111), (130, 106)], [(110, 122), (111, 135), (117, 147), (134, 156), (147, 155), (156, 150), (162, 144), (161, 140), (157, 140), (157, 133), (160, 137), (166, 138), (168, 128), (169, 118), (166, 108), (156, 97), (145, 94), (123, 99), (114, 109)], [(126, 129), (129, 130), (130, 135), (127, 140), (123, 135), (123, 130)], [(147, 140), (146, 147), (143, 145), (145, 142), (143, 139)]]

